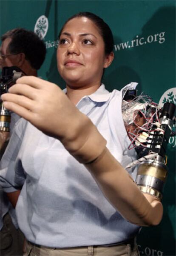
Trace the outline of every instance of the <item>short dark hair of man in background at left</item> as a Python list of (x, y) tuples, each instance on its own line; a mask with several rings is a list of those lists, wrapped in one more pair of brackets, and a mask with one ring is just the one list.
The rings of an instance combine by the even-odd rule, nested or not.
[(11, 38), (10, 53), (24, 53), (32, 68), (40, 68), (45, 60), (46, 46), (37, 34), (24, 28), (14, 28), (3, 34), (1, 40), (6, 38)]

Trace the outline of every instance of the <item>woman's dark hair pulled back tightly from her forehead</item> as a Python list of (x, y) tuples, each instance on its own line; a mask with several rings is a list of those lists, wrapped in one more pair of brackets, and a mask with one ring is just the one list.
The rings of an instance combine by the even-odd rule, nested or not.
[(111, 28), (108, 26), (107, 23), (104, 22), (104, 20), (100, 17), (98, 17), (96, 14), (91, 12), (79, 12), (77, 14), (74, 14), (72, 17), (70, 17), (63, 25), (60, 33), (59, 38), (62, 33), (63, 28), (68, 23), (69, 20), (72, 20), (77, 17), (86, 17), (89, 20), (91, 20), (99, 29), (99, 33), (101, 34), (103, 41), (105, 43), (105, 54), (110, 54), (111, 51), (113, 51), (114, 47), (114, 40), (113, 40), (113, 34), (111, 31)]

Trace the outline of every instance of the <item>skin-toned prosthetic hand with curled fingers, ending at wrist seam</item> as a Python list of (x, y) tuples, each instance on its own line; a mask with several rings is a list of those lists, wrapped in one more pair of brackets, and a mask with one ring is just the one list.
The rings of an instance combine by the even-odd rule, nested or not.
[(51, 82), (37, 77), (21, 77), (9, 88), (8, 94), (2, 95), (2, 100), (7, 109), (48, 136), (59, 139), (81, 163), (91, 162), (105, 148), (106, 141), (91, 120)]

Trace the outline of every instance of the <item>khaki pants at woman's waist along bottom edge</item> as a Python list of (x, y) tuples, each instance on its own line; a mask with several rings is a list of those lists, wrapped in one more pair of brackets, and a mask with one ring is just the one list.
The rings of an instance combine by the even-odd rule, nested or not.
[(23, 256), (139, 256), (137, 245), (131, 248), (130, 244), (110, 247), (88, 246), (74, 248), (37, 247), (26, 242), (26, 252)]

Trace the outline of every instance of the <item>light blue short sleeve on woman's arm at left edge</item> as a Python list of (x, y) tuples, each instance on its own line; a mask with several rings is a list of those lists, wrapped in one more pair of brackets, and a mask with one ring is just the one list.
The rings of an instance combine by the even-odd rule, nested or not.
[[(0, 162), (0, 187), (7, 193), (21, 189), (26, 179), (22, 166), (20, 168), (19, 179), (17, 179), (17, 174), (15, 172), (16, 159), (20, 152), (26, 124), (27, 121), (22, 118), (16, 123), (9, 144)], [(20, 164), (18, 163), (18, 165)]]

